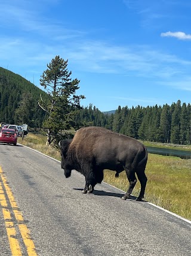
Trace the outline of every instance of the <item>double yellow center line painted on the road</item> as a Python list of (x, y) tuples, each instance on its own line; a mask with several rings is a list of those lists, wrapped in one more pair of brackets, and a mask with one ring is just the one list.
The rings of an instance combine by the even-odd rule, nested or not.
[(13, 193), (10, 189), (10, 186), (8, 186), (7, 178), (3, 174), (1, 166), (0, 166), (0, 177), (5, 188), (5, 191), (4, 191), (1, 184), (1, 180), (0, 180), (0, 204), (2, 206), (2, 212), (5, 219), (5, 227), (7, 230), (7, 236), (10, 243), (12, 255), (20, 256), (22, 254), (21, 254), (19, 241), (16, 239), (16, 228), (14, 227), (14, 223), (11, 218), (11, 213), (8, 209), (5, 208), (7, 207), (5, 192), (11, 204), (16, 221), (19, 225), (20, 234), (21, 234), (21, 237), (23, 238), (24, 245), (26, 246), (27, 253), (29, 256), (37, 256), (35, 245), (33, 243), (33, 240), (30, 237), (30, 231), (27, 228), (26, 224), (24, 224), (23, 215), (21, 214), (19, 207), (17, 206), (16, 200), (14, 200)]

